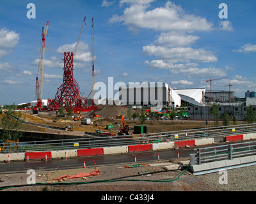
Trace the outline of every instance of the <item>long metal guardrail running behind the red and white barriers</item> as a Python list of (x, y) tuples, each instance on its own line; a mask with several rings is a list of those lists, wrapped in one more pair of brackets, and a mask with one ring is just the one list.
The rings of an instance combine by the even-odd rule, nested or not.
[[(169, 131), (131, 136), (90, 136), (83, 138), (63, 140), (42, 140), (35, 142), (19, 142), (15, 152), (50, 151), (68, 149), (88, 149), (97, 147), (114, 147), (122, 145), (138, 145), (140, 143), (177, 142), (182, 140), (195, 140), (198, 138), (220, 137), (228, 135), (241, 135), (256, 133), (256, 123), (222, 126), (215, 128), (189, 129), (182, 131)], [(0, 143), (1, 145), (1, 143)], [(3, 146), (3, 143), (2, 145)], [(0, 153), (13, 152), (14, 147), (8, 144)]]

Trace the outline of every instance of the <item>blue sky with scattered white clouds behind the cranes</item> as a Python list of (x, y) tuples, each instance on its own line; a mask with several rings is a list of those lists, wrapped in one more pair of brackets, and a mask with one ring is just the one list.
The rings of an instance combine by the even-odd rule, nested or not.
[(42, 98), (55, 97), (63, 53), (74, 52), (84, 17), (74, 78), (85, 97), (92, 89), (92, 18), (95, 82), (108, 87), (113, 77), (209, 91), (212, 78), (213, 91), (232, 84), (234, 95), (244, 97), (256, 91), (255, 10), (256, 1), (248, 0), (0, 0), (0, 105), (36, 100), (47, 21)]

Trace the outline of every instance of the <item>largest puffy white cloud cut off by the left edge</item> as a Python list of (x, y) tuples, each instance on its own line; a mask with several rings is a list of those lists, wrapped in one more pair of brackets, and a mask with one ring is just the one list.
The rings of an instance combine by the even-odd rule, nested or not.
[(0, 58), (10, 54), (19, 42), (19, 33), (10, 31), (5, 27), (0, 30)]

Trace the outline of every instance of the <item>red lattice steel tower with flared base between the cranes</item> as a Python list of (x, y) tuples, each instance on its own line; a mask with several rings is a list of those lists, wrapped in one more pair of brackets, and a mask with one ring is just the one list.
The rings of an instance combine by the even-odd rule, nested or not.
[(55, 99), (49, 101), (52, 108), (64, 108), (72, 106), (73, 108), (81, 108), (82, 100), (80, 97), (80, 87), (74, 79), (73, 75), (73, 52), (64, 52), (64, 74), (63, 83), (58, 88)]

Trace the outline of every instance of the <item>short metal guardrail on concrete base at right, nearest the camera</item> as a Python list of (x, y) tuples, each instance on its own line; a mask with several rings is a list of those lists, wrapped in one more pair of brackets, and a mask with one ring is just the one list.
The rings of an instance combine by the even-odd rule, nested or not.
[(191, 154), (191, 164), (202, 164), (223, 159), (234, 159), (236, 157), (252, 156), (256, 154), (256, 141), (204, 147)]

